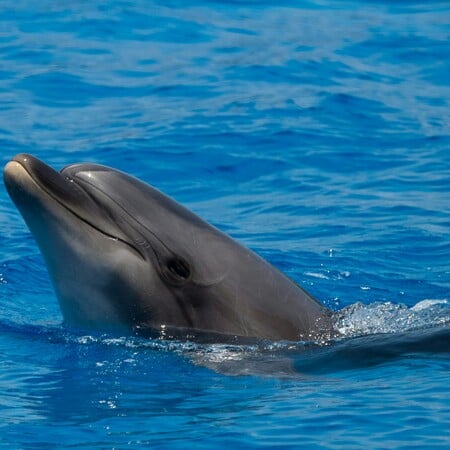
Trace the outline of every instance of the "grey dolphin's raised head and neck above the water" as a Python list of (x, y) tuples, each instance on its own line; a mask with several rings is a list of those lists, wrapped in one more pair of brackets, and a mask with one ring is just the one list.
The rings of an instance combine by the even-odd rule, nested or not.
[(21, 154), (6, 165), (4, 180), (67, 324), (272, 340), (333, 334), (330, 310), (132, 176), (96, 164), (57, 172)]

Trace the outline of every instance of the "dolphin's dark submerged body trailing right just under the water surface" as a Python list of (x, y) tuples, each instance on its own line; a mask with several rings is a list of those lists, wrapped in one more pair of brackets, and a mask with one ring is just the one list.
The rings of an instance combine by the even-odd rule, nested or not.
[(196, 364), (227, 375), (315, 376), (369, 368), (418, 355), (450, 356), (450, 327), (341, 338), (326, 343), (278, 342), (198, 347)]

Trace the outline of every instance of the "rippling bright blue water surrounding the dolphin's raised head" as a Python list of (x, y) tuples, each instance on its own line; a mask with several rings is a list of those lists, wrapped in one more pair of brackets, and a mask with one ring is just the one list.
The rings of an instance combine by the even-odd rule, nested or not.
[(449, 61), (445, 1), (3, 1), (2, 164), (142, 178), (345, 338), (64, 328), (1, 184), (0, 445), (449, 448)]

